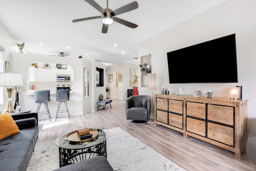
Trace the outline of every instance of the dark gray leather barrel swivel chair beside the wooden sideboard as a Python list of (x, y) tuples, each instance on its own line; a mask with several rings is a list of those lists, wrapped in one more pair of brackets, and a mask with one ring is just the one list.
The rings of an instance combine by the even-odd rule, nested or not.
[(147, 123), (150, 109), (149, 95), (133, 95), (126, 99), (126, 119), (132, 119), (132, 123)]

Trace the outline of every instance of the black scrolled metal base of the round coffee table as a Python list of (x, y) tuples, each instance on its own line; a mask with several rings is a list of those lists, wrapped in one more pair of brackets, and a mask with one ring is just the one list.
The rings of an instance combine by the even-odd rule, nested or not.
[(59, 147), (60, 167), (78, 163), (92, 157), (104, 156), (107, 158), (106, 140), (92, 147), (82, 149), (64, 149)]

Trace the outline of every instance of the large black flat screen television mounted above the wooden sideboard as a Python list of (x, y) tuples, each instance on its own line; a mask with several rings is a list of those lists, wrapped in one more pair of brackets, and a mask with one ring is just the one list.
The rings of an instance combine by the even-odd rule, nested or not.
[(236, 35), (167, 53), (170, 84), (237, 83)]

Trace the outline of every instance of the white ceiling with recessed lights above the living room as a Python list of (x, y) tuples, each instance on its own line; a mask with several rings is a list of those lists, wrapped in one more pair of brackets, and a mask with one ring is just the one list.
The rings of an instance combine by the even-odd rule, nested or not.
[[(95, 1), (106, 8), (106, 0)], [(133, 1), (109, 0), (108, 8), (115, 10)], [(72, 22), (101, 15), (84, 0), (0, 0), (0, 23), (19, 43), (25, 42), (24, 50), (29, 54), (66, 52), (69, 54), (66, 58), (82, 56), (111, 66), (122, 62), (139, 63), (138, 59), (133, 59), (138, 58), (139, 42), (224, 1), (137, 0), (138, 9), (116, 16), (137, 24), (137, 28), (114, 22), (109, 25), (108, 33), (102, 34), (100, 18)]]

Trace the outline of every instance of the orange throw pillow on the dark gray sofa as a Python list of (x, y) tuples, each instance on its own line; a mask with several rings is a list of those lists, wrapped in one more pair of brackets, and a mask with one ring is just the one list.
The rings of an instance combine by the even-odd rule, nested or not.
[(20, 130), (8, 112), (0, 114), (0, 140), (15, 135)]

